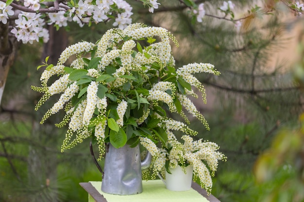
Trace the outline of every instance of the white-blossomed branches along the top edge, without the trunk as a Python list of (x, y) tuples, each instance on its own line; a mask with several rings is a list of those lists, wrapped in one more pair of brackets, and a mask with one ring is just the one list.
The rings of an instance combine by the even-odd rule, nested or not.
[[(157, 0), (138, 0), (144, 7), (149, 8), (153, 13), (158, 9), (160, 3)], [(216, 17), (229, 20), (241, 25), (241, 20), (257, 13), (269, 14), (272, 9), (261, 11), (260, 7), (254, 7), (247, 16), (236, 19), (234, 14), (235, 4), (232, 1), (223, 1), (218, 11), (222, 15), (216, 16), (205, 12), (204, 3), (197, 4), (194, 0), (179, 0), (188, 9), (189, 16), (196, 18), (197, 22), (202, 22), (204, 16)], [(303, 4), (280, 0), (297, 15), (302, 14)], [(131, 16), (133, 8), (126, 0), (0, 0), (0, 21), (7, 24), (14, 21), (11, 32), (18, 41), (23, 43), (33, 43), (42, 39), (43, 42), (49, 40), (48, 30), (45, 25), (53, 25), (56, 28), (67, 27), (68, 22), (74, 21), (83, 27), (84, 24), (107, 22), (113, 19), (113, 26), (124, 29), (132, 23)]]

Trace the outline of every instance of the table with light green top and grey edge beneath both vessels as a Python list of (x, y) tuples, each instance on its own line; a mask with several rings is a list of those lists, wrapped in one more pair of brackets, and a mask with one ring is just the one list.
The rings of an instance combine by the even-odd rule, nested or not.
[(220, 202), (198, 184), (192, 182), (189, 191), (170, 191), (161, 180), (143, 181), (143, 192), (135, 195), (112, 195), (101, 191), (101, 182), (80, 183), (87, 192), (89, 202)]

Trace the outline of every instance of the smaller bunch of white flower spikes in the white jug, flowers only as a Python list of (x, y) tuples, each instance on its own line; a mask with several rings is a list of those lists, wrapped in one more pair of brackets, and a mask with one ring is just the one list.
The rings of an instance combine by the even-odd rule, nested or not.
[[(184, 143), (181, 143), (173, 135), (169, 137), (166, 145), (158, 148), (156, 144), (147, 138), (140, 138), (141, 144), (153, 156), (152, 170), (153, 173), (164, 173), (177, 165), (186, 172), (186, 167), (193, 166), (194, 179), (199, 178), (201, 186), (206, 189), (207, 193), (211, 193), (212, 177), (217, 171), (219, 161), (226, 161), (227, 157), (220, 153), (220, 147), (209, 141), (202, 139), (193, 140), (189, 135), (184, 135), (181, 138)], [(166, 163), (168, 162), (168, 163)]]

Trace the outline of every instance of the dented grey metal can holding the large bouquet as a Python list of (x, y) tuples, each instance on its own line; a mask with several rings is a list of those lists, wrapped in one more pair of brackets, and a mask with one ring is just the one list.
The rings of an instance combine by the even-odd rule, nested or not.
[(131, 148), (124, 145), (115, 148), (107, 144), (103, 171), (99, 166), (90, 144), (95, 164), (102, 173), (101, 191), (109, 194), (132, 195), (142, 192), (141, 170), (149, 168), (152, 155), (148, 152), (143, 161), (140, 160), (139, 145)]

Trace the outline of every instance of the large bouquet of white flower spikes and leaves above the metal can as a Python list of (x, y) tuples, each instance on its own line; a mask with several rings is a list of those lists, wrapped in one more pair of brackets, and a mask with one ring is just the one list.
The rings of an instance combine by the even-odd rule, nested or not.
[[(40, 78), (42, 87), (32, 89), (44, 95), (35, 110), (52, 95), (61, 94), (41, 124), (59, 110), (65, 110), (63, 121), (56, 124), (68, 125), (62, 152), (91, 137), (99, 145), (100, 158), (107, 142), (116, 148), (125, 144), (133, 147), (141, 142), (155, 158), (153, 151), (158, 150), (150, 147), (156, 147), (158, 142), (167, 146), (169, 140), (175, 140), (173, 130), (197, 134), (187, 126), (186, 114), (193, 115), (209, 129), (189, 99), (198, 97), (193, 86), (206, 102), (203, 85), (192, 74), (220, 73), (209, 63), (176, 68), (170, 40), (178, 46), (174, 36), (164, 28), (132, 24), (124, 30), (106, 31), (96, 44), (80, 42), (66, 48), (56, 65), (48, 64), (46, 59), (39, 66), (46, 66)], [(52, 77), (57, 79), (50, 83)], [(168, 118), (168, 111), (180, 114), (186, 124)], [(184, 158), (192, 162), (190, 157)]]

